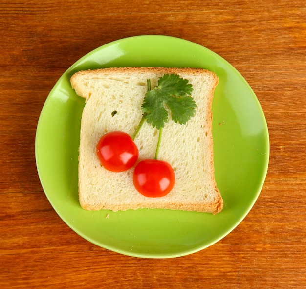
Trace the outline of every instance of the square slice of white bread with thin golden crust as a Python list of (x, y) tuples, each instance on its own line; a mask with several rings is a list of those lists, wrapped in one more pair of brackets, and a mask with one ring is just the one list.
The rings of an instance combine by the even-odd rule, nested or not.
[[(134, 133), (141, 117), (141, 104), (147, 92), (164, 74), (178, 74), (193, 85), (196, 114), (186, 125), (171, 117), (162, 133), (158, 159), (175, 170), (175, 186), (164, 197), (150, 198), (133, 186), (133, 168), (122, 173), (104, 169), (96, 146), (109, 131)], [(218, 213), (223, 200), (214, 176), (212, 99), (218, 77), (195, 68), (121, 67), (87, 70), (71, 77), (72, 88), (86, 98), (82, 114), (79, 148), (79, 200), (86, 210), (124, 211), (161, 208)], [(144, 123), (135, 138), (138, 161), (154, 158), (158, 131)]]

